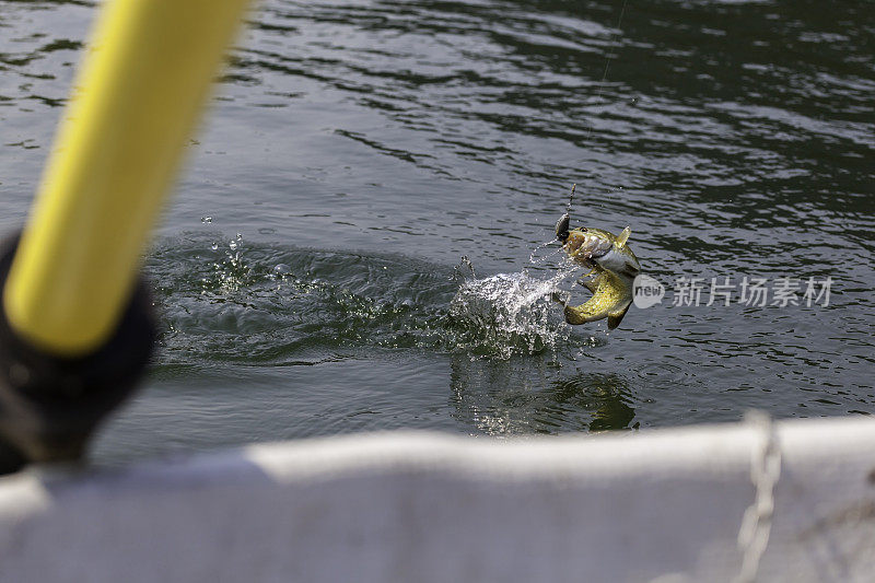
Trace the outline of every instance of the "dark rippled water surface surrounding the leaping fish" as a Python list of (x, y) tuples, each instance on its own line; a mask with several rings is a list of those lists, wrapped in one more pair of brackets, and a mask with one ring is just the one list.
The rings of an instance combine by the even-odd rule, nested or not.
[[(629, 0), (617, 28), (620, 7), (260, 2), (147, 259), (160, 355), (95, 458), (875, 411), (872, 4)], [(3, 230), (94, 13), (0, 0)], [(668, 288), (609, 335), (522, 301), (571, 183), (574, 223), (631, 225)], [(498, 295), (454, 302), (462, 255)], [(826, 306), (739, 301), (827, 276)]]

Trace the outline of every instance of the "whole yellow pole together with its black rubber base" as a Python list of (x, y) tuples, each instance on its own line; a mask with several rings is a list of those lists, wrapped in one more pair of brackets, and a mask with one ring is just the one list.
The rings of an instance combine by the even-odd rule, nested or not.
[(0, 474), (80, 457), (141, 376), (141, 256), (246, 4), (102, 9), (30, 221), (0, 249)]

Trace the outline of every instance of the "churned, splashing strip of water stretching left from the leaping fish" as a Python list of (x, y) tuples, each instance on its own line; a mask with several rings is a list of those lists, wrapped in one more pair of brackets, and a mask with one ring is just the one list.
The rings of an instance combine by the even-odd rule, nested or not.
[(448, 270), (222, 240), (187, 235), (148, 261), (166, 323), (165, 362), (284, 364), (363, 347), (509, 360), (591, 346), (551, 301), (576, 266), (478, 278), (467, 259)]

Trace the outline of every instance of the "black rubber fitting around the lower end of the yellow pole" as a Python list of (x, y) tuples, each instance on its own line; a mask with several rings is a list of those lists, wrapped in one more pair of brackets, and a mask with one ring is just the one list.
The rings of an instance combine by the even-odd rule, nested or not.
[[(0, 245), (0, 293), (18, 241)], [(0, 474), (31, 462), (80, 459), (101, 420), (136, 388), (154, 345), (142, 280), (113, 337), (83, 357), (57, 357), (25, 341), (0, 308)]]

